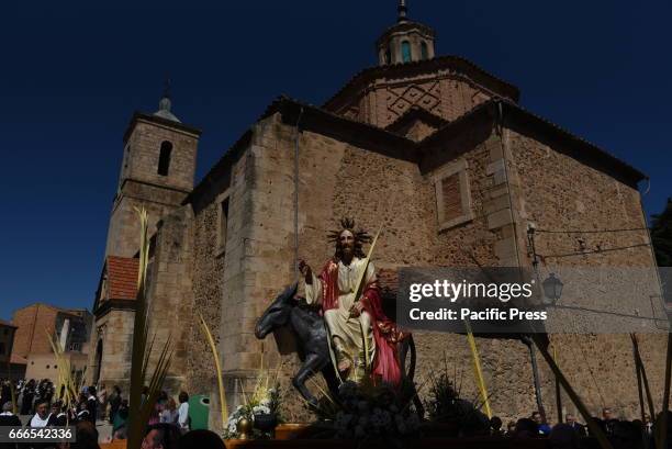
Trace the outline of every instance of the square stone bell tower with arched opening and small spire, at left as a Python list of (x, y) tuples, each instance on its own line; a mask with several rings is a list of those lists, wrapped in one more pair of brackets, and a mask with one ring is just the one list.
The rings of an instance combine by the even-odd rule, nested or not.
[(149, 232), (193, 189), (201, 132), (172, 112), (168, 86), (158, 111), (136, 112), (124, 134), (124, 155), (112, 206), (105, 256), (133, 257), (139, 224), (134, 207), (149, 214)]

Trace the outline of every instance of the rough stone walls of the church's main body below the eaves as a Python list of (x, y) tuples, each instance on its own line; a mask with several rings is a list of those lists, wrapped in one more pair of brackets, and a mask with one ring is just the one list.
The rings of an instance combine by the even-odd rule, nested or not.
[[(208, 195), (211, 200), (194, 212), (194, 310), (203, 312), (217, 339), (229, 407), (239, 402), (240, 386), (251, 389), (264, 362), (265, 367), (281, 367), (289, 418), (305, 419), (302, 402), (289, 384), (298, 368), (291, 336), (279, 333), (261, 343), (253, 335), (256, 318), (295, 279), (296, 133), (279, 114), (260, 121), (253, 131), (249, 146), (231, 165), (231, 183), (213, 187)], [(512, 131), (500, 135), (492, 123), (474, 124), (458, 135), (437, 139), (419, 166), (388, 156), (385, 148), (362, 148), (315, 131), (303, 130), (298, 143), (299, 257), (315, 271), (333, 255), (326, 235), (344, 216), (355, 217), (359, 226), (372, 233), (384, 225), (374, 257), (379, 270), (404, 266), (529, 266), (528, 222), (547, 228), (643, 226), (632, 187), (579, 162), (563, 148), (549, 148), (537, 138)], [(436, 176), (456, 161), (466, 167), (469, 216), (440, 227)], [(222, 251), (217, 233), (224, 198), (228, 198), (229, 211)], [(623, 216), (615, 220), (615, 211)], [(640, 234), (631, 239), (643, 242), (645, 237)], [(619, 242), (605, 240), (604, 245)], [(548, 240), (537, 249), (568, 249), (562, 245), (573, 247), (572, 243)], [(650, 266), (650, 249), (614, 254), (601, 261), (619, 262)], [(414, 338), (418, 382), (445, 367), (463, 397), (478, 397), (464, 336), (418, 332)], [(562, 335), (551, 339), (559, 364), (594, 413), (608, 405), (617, 414), (636, 416), (637, 392), (630, 379), (634, 371), (627, 335)], [(515, 338), (477, 338), (477, 343), (494, 413), (509, 419), (536, 409), (528, 347)], [(662, 360), (653, 356), (662, 353), (661, 345), (657, 336), (641, 338), (657, 392)], [(210, 389), (211, 397), (216, 396), (212, 358), (197, 325), (191, 326), (189, 348), (187, 385), (197, 391)], [(537, 358), (544, 405), (555, 420), (555, 380), (539, 355)], [(240, 379), (240, 385), (236, 379)], [(608, 404), (604, 402), (607, 399), (612, 399)], [(564, 406), (567, 412), (575, 412), (567, 397)]]

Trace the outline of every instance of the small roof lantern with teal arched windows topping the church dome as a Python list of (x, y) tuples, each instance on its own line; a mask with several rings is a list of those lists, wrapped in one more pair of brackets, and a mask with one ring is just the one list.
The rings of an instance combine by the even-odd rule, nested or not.
[(385, 66), (434, 58), (434, 30), (408, 20), (406, 0), (399, 0), (396, 11), (396, 23), (376, 43), (378, 64)]

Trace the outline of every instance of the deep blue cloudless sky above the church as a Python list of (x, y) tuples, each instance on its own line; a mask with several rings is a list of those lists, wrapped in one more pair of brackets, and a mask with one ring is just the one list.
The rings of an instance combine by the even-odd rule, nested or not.
[[(100, 3), (100, 4), (99, 4)], [(672, 195), (669, 1), (410, 0), (522, 104)], [(18, 2), (0, 14), (0, 318), (35, 301), (90, 307), (122, 136), (172, 79), (173, 112), (203, 130), (197, 177), (281, 93), (321, 104), (376, 64), (394, 0)]]

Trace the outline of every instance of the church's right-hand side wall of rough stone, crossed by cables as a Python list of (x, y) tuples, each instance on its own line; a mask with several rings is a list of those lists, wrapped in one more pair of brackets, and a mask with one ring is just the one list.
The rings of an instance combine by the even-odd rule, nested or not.
[[(570, 156), (570, 148), (541, 141), (523, 131), (507, 130), (504, 139), (511, 150), (513, 189), (519, 195), (520, 232), (525, 232), (526, 223), (536, 226), (536, 252), (546, 255), (539, 259), (542, 274), (562, 270), (563, 267), (656, 267), (649, 246), (609, 250), (648, 244), (646, 231), (595, 232), (646, 228), (639, 192), (635, 186), (580, 162)], [(583, 229), (593, 233), (544, 233), (544, 229)], [(592, 252), (600, 248), (604, 251)], [(531, 247), (525, 244), (520, 249), (524, 263), (530, 265)], [(586, 254), (551, 257), (581, 251)], [(651, 293), (658, 291), (654, 276), (645, 289)], [(649, 311), (650, 315), (651, 304), (641, 303), (642, 295), (645, 292), (639, 292), (629, 302), (619, 301), (618, 304), (604, 306), (626, 314), (638, 311), (646, 314)], [(608, 299), (605, 301), (608, 302)], [(656, 316), (664, 317), (664, 312), (658, 310)], [(648, 323), (641, 328), (639, 339), (653, 397), (658, 401), (663, 389), (667, 338), (652, 323)], [(553, 335), (551, 340), (559, 366), (591, 411), (597, 413), (601, 407), (609, 406), (617, 415), (638, 417), (637, 378), (632, 345), (627, 334), (559, 334)], [(541, 367), (546, 368), (545, 363)], [(555, 419), (553, 378), (547, 369), (544, 369), (542, 378), (547, 412), (551, 412)], [(562, 403), (567, 411), (575, 412), (564, 393)]]

